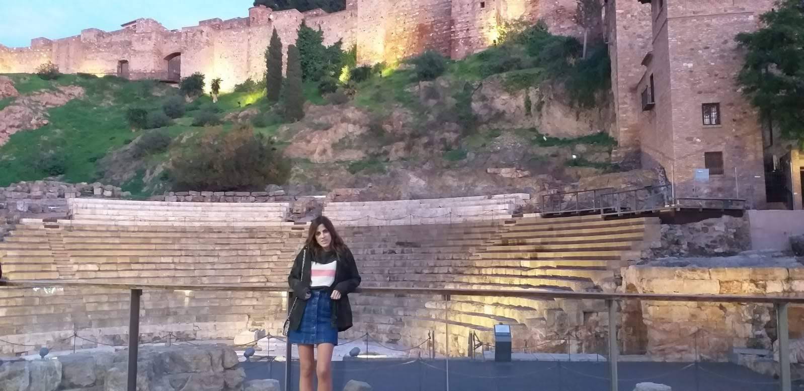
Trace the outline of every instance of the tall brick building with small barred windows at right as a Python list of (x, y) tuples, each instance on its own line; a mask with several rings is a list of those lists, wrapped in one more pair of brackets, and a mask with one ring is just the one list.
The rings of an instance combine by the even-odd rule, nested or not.
[(765, 208), (769, 134), (763, 141), (757, 110), (736, 84), (743, 53), (735, 36), (756, 30), (772, 6), (607, 0), (613, 133), (621, 148), (639, 154), (642, 167), (664, 167), (676, 196), (745, 198)]

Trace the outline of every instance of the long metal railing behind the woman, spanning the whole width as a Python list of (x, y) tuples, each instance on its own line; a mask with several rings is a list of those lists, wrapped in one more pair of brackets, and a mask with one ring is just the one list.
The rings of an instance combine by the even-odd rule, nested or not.
[[(293, 300), (292, 292), (285, 286), (243, 286), (243, 285), (162, 285), (162, 284), (141, 284), (141, 283), (105, 283), (105, 282), (64, 282), (64, 281), (6, 281), (0, 280), (0, 287), (11, 288), (51, 288), (51, 287), (74, 287), (74, 288), (101, 288), (107, 290), (129, 290), (129, 364), (128, 364), (128, 390), (135, 391), (137, 388), (137, 356), (139, 346), (139, 326), (140, 326), (140, 297), (143, 290), (201, 290), (201, 291), (248, 291), (248, 292), (278, 292), (287, 293), (287, 308), (291, 307)], [(543, 291), (543, 290), (478, 290), (478, 289), (433, 289), (433, 288), (361, 288), (355, 294), (407, 294), (407, 295), (441, 295), (445, 301), (449, 301), (451, 296), (494, 296), (494, 297), (514, 297), (514, 298), (535, 298), (535, 299), (598, 299), (604, 300), (608, 309), (608, 319), (617, 319), (617, 302), (623, 300), (649, 300), (663, 302), (695, 302), (695, 303), (765, 303), (775, 307), (777, 315), (777, 335), (779, 341), (779, 352), (789, 352), (790, 332), (788, 324), (788, 306), (790, 304), (804, 304), (804, 297), (801, 296), (767, 296), (767, 295), (735, 295), (735, 294), (629, 294), (629, 293), (599, 293), (599, 292), (572, 292), (572, 291)], [(445, 306), (445, 311), (449, 311)], [(615, 323), (616, 324), (616, 321)], [(608, 327), (608, 379), (609, 389), (617, 391), (619, 389), (617, 375), (617, 356), (619, 346), (617, 344), (617, 327), (611, 327), (609, 320)], [(449, 321), (445, 317), (445, 335), (449, 335)], [(477, 339), (470, 339), (474, 347)], [(449, 352), (449, 338), (445, 339), (446, 351)], [(285, 390), (290, 388), (291, 378), (291, 346), (286, 341), (285, 360)], [(782, 391), (790, 391), (790, 355), (780, 354), (780, 387)], [(449, 354), (446, 356), (446, 389), (449, 391)]]

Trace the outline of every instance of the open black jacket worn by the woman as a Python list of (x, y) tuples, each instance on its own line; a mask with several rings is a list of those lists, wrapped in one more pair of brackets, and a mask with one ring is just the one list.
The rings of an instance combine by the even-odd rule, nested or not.
[[(301, 256), (306, 253), (306, 260), (302, 262)], [(290, 330), (297, 330), (301, 323), (301, 316), (304, 315), (306, 307), (305, 296), (310, 291), (310, 269), (313, 261), (312, 249), (301, 249), (293, 261), (293, 267), (290, 269), (288, 276), (288, 285), (293, 290), (293, 295), (298, 298), (296, 307), (290, 313)], [(338, 264), (335, 266), (335, 282), (330, 287), (331, 290), (338, 290), (341, 293), (339, 300), (332, 301), (332, 324), (338, 331), (346, 331), (352, 327), (351, 305), (349, 304), (349, 296), (351, 292), (360, 285), (360, 274), (357, 271), (355, 264), (355, 257), (352, 256), (351, 251), (340, 256)], [(301, 265), (304, 264), (304, 270), (301, 270)], [(291, 302), (293, 305), (293, 302)]]

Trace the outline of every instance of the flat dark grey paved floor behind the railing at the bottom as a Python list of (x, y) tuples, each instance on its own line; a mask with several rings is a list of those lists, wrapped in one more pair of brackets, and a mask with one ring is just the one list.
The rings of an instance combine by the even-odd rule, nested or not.
[[(298, 363), (293, 361), (293, 386)], [(284, 385), (285, 363), (243, 363), (248, 379), (273, 378)], [(619, 387), (631, 391), (640, 382), (671, 385), (673, 391), (777, 391), (772, 377), (728, 363), (619, 364)], [(445, 391), (445, 360), (357, 359), (333, 362), (334, 390), (351, 379), (366, 381), (373, 391)], [(481, 360), (450, 360), (450, 391), (608, 391), (605, 362), (515, 361), (510, 364)], [(804, 389), (794, 385), (794, 389)]]

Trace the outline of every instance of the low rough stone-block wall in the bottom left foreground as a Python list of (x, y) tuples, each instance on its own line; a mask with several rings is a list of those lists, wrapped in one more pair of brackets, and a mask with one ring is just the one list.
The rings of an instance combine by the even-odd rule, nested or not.
[[(77, 353), (0, 364), (0, 389), (125, 391), (127, 373), (127, 350)], [(142, 391), (240, 391), (244, 379), (235, 352), (224, 345), (143, 347), (137, 360), (137, 389)]]

